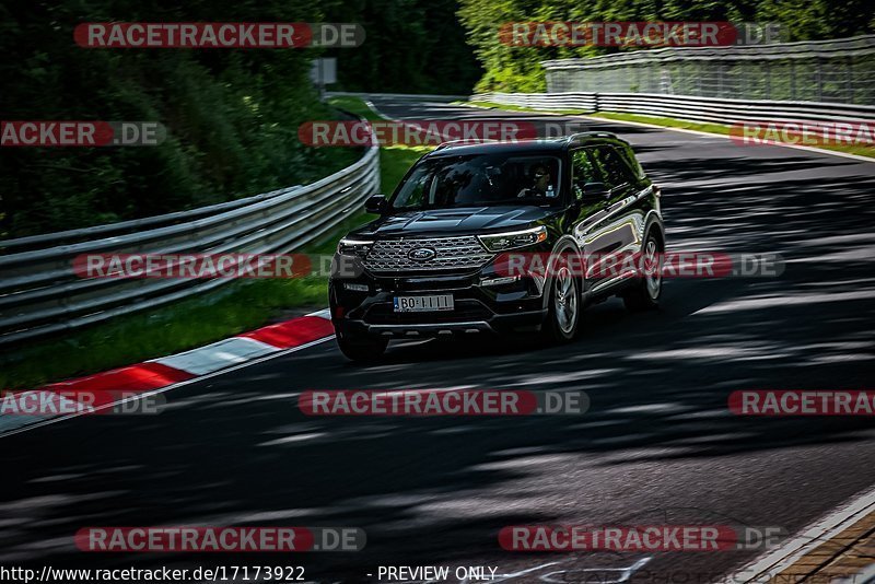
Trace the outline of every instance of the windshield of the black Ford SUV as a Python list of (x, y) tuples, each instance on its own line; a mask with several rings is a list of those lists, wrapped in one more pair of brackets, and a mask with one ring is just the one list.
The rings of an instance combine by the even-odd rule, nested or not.
[(441, 156), (418, 164), (392, 201), (394, 209), (559, 203), (557, 156), (511, 153)]

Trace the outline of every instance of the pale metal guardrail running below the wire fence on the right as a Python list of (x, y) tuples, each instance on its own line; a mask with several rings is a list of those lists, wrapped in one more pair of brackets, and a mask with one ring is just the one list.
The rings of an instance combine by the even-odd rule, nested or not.
[(581, 113), (619, 112), (690, 121), (864, 121), (875, 122), (875, 106), (818, 102), (721, 100), (644, 93), (485, 93), (472, 102)]

